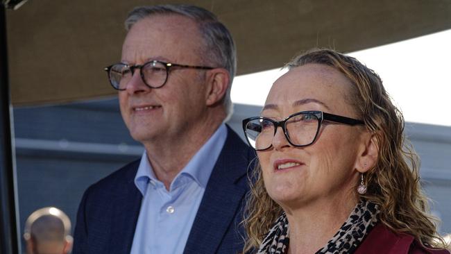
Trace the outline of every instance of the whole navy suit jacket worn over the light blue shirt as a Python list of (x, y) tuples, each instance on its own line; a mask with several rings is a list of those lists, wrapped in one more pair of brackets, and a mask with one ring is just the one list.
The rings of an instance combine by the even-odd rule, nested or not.
[[(243, 248), (245, 234), (239, 223), (255, 152), (227, 128), (226, 143), (208, 180), (185, 254), (233, 254)], [(130, 253), (142, 201), (134, 183), (138, 166), (139, 160), (131, 162), (86, 190), (78, 208), (74, 254)]]

